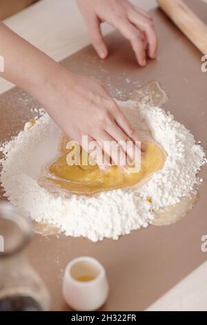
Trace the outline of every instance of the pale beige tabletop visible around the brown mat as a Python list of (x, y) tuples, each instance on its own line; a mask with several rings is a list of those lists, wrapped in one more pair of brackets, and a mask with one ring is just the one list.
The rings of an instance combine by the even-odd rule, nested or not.
[[(156, 6), (154, 0), (133, 0), (133, 2), (146, 10)], [(90, 41), (75, 0), (41, 0), (6, 19), (6, 24), (57, 61), (75, 53)], [(105, 34), (110, 30), (112, 28), (109, 26), (103, 27)], [(12, 84), (0, 78), (0, 93), (11, 87)], [(206, 275), (207, 262), (148, 310), (207, 310)]]

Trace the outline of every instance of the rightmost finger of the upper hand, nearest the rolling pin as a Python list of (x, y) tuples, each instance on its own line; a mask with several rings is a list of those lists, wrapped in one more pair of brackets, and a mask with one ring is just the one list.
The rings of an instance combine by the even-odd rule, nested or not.
[(155, 58), (157, 53), (157, 33), (152, 20), (140, 15), (135, 10), (129, 10), (128, 19), (135, 24), (140, 30), (145, 32), (149, 45), (149, 57)]

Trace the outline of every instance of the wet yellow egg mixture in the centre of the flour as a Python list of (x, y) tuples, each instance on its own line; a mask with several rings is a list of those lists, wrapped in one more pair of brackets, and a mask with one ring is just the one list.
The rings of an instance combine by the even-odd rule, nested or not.
[(164, 167), (166, 156), (155, 143), (146, 142), (146, 151), (141, 157), (141, 169), (138, 173), (130, 173), (117, 166), (101, 171), (95, 166), (69, 166), (66, 158), (66, 140), (61, 144), (61, 155), (50, 165), (48, 180), (63, 189), (77, 194), (94, 194), (109, 189), (120, 189), (142, 183), (153, 173)]

